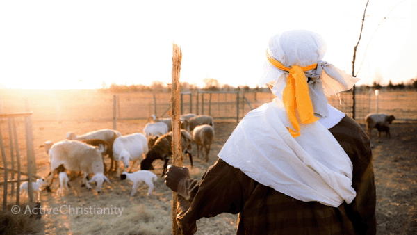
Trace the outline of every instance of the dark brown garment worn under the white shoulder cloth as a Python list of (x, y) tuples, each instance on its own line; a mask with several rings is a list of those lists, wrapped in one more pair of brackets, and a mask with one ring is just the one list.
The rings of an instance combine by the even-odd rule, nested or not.
[(375, 234), (375, 184), (370, 140), (350, 117), (329, 129), (353, 164), (351, 204), (334, 208), (302, 202), (263, 186), (222, 159), (202, 180), (185, 179), (178, 188), (177, 222), (194, 234), (196, 220), (239, 213), (237, 234)]

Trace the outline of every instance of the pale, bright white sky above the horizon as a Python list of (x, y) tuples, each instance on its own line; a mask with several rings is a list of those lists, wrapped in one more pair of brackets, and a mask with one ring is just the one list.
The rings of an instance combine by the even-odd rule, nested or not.
[[(306, 29), (352, 74), (366, 0), (0, 1), (0, 88), (96, 89), (172, 81), (257, 87), (272, 35)], [(417, 0), (370, 0), (358, 84), (417, 77)], [(385, 19), (384, 19), (385, 18)]]

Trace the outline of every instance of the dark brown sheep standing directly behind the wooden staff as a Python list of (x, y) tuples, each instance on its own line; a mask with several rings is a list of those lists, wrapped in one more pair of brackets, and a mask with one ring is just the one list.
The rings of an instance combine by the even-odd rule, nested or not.
[[(166, 133), (163, 136), (160, 136), (156, 141), (154, 146), (149, 149), (149, 152), (146, 154), (145, 159), (140, 162), (141, 170), (154, 170), (152, 163), (156, 159), (161, 159), (164, 161), (163, 171), (161, 177), (165, 175), (167, 169), (168, 161), (172, 157), (172, 131)], [(181, 130), (181, 147), (183, 149), (183, 155), (188, 154), (190, 158), (191, 167), (193, 167), (193, 156), (188, 151), (191, 149), (191, 138), (190, 134), (186, 130)]]

